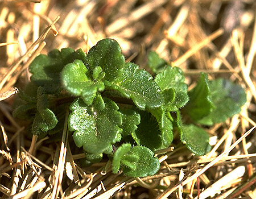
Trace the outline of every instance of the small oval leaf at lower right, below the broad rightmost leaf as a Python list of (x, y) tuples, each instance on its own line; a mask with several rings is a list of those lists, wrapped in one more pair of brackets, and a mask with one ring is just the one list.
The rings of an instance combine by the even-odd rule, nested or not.
[(177, 119), (177, 126), (180, 130), (180, 140), (195, 155), (205, 155), (210, 151), (209, 135), (204, 130), (195, 125), (182, 125)]

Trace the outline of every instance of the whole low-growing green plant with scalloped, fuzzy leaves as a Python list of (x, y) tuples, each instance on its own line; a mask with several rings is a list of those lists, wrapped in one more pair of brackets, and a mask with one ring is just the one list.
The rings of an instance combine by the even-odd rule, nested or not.
[[(154, 76), (125, 63), (113, 39), (101, 40), (87, 55), (81, 49), (54, 49), (31, 63), (31, 82), (20, 92), (14, 115), (32, 119), (33, 134), (53, 135), (61, 131), (68, 106), (68, 128), (86, 163), (106, 154), (114, 173), (122, 168), (131, 177), (158, 172), (154, 151), (169, 147), (175, 131), (195, 155), (206, 154), (209, 136), (196, 124), (213, 125), (239, 113), (244, 90), (201, 73), (188, 92), (180, 68), (155, 52), (148, 55), (148, 66)], [(193, 123), (184, 124), (184, 113)]]

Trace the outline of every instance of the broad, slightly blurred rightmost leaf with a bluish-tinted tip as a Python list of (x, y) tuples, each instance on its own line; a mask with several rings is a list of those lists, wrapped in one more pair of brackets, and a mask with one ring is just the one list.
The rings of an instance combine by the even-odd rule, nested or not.
[(241, 106), (246, 102), (245, 90), (240, 85), (220, 78), (209, 81), (209, 88), (214, 109), (197, 122), (203, 125), (213, 125), (225, 122), (226, 119), (240, 113)]

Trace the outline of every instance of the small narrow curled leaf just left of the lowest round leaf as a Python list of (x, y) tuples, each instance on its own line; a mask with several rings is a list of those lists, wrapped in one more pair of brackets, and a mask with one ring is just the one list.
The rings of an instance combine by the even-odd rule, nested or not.
[(118, 147), (117, 151), (115, 151), (113, 160), (112, 160), (112, 171), (113, 173), (117, 173), (120, 169), (120, 163), (122, 157), (130, 151), (131, 144), (122, 144), (122, 146)]

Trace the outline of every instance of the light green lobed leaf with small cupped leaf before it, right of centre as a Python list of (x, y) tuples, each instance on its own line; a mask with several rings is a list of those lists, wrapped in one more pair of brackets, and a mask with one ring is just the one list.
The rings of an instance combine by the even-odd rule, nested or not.
[(187, 85), (180, 68), (166, 67), (155, 77), (164, 96), (164, 109), (176, 111), (188, 102)]

